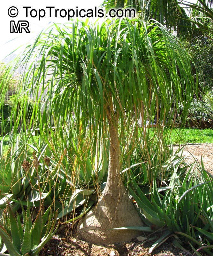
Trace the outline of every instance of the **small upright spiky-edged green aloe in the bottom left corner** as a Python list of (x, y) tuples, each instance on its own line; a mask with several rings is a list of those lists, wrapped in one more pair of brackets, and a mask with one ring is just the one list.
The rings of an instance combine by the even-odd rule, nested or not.
[(21, 216), (16, 212), (15, 217), (9, 205), (4, 211), (0, 224), (2, 243), (4, 242), (10, 255), (38, 255), (42, 247), (50, 240), (58, 228), (59, 222), (55, 227), (57, 211), (52, 218), (52, 207), (49, 206), (45, 212), (43, 207), (41, 207), (36, 219), (32, 222), (29, 200), (26, 211), (21, 202), (20, 204), (22, 208)]

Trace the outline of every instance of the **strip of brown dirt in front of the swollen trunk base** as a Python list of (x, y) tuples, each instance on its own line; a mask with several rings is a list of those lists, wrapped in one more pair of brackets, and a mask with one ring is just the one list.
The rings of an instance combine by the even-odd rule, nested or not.
[[(80, 240), (79, 238), (70, 237), (62, 238), (60, 235), (54, 236), (40, 252), (40, 256), (142, 256), (148, 255), (152, 243), (150, 241), (141, 242), (137, 239), (129, 243), (95, 245)], [(164, 244), (155, 249), (151, 256), (178, 256), (189, 255), (175, 248), (172, 239), (169, 238)]]

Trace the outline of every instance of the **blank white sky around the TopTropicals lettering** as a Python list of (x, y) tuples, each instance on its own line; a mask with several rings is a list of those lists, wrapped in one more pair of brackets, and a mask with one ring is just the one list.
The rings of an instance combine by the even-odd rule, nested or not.
[[(161, 0), (159, 0), (161, 1)], [(189, 0), (191, 2), (196, 2), (196, 0)], [(17, 49), (21, 45), (26, 45), (29, 41), (32, 41), (33, 38), (35, 39), (35, 36), (39, 34), (39, 32), (43, 28), (47, 28), (49, 25), (49, 22), (55, 22), (55, 23), (64, 23), (68, 22), (67, 17), (66, 18), (55, 18), (54, 16), (54, 9), (52, 9), (52, 17), (49, 17), (49, 9), (46, 8), (46, 6), (54, 6), (55, 9), (95, 9), (95, 7), (99, 7), (99, 5), (103, 2), (103, 0), (1, 0), (1, 8), (0, 8), (0, 24), (1, 24), (1, 37), (0, 37), (0, 61), (3, 60), (8, 54), (13, 52), (15, 49)], [(18, 9), (18, 15), (15, 18), (11, 18), (8, 15), (8, 9), (11, 6), (15, 6)], [(28, 17), (26, 17), (26, 8), (23, 8), (23, 6), (31, 6), (31, 8), (28, 9)], [(100, 7), (99, 7), (100, 8)], [(36, 9), (37, 11), (39, 9), (44, 9), (46, 11), (46, 16), (44, 18), (41, 18), (39, 21), (38, 16), (35, 18), (31, 18), (29, 15), (29, 12), (32, 9)], [(13, 11), (12, 11), (13, 12)], [(64, 12), (62, 12), (63, 14)], [(35, 12), (33, 11), (32, 14), (34, 15)], [(41, 11), (41, 14), (43, 12)], [(75, 17), (74, 17), (75, 18)], [(82, 20), (82, 18), (79, 18)], [(27, 34), (25, 31), (23, 31), (22, 34), (18, 33), (10, 33), (10, 21), (14, 20), (16, 23), (18, 20), (27, 20), (29, 22), (29, 30), (30, 33)], [(93, 19), (90, 18), (92, 21)], [(96, 19), (94, 19), (96, 20)], [(18, 54), (20, 52), (20, 49), (17, 50), (15, 53)]]

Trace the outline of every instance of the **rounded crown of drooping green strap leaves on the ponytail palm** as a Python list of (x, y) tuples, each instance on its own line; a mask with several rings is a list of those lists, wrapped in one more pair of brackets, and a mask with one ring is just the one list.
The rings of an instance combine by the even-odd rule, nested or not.
[(45, 104), (57, 125), (74, 110), (78, 129), (90, 124), (95, 134), (103, 130), (107, 111), (116, 112), (124, 124), (136, 109), (143, 108), (153, 121), (161, 108), (160, 123), (178, 100), (187, 104), (192, 96), (189, 58), (177, 38), (156, 21), (55, 25), (23, 56), (28, 67), (25, 89)]

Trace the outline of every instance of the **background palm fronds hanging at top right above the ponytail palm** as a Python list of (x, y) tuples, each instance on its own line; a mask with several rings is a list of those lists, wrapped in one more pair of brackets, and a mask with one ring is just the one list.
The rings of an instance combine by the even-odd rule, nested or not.
[(106, 11), (135, 8), (143, 20), (157, 20), (170, 32), (184, 37), (196, 30), (209, 31), (203, 18), (213, 20), (212, 5), (212, 0), (198, 0), (196, 4), (185, 0), (104, 0), (102, 7)]

